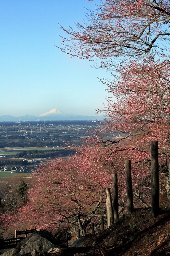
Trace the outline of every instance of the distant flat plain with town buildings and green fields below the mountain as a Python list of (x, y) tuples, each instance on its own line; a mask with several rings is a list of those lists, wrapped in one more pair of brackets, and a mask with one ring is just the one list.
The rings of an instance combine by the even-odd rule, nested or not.
[(67, 158), (96, 129), (102, 129), (96, 120), (0, 122), (0, 171), (32, 172), (51, 159)]

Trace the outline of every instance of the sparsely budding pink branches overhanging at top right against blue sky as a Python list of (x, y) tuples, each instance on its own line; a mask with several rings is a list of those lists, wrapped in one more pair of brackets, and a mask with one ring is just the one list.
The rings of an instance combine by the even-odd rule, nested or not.
[(100, 59), (107, 69), (150, 53), (169, 60), (169, 1), (100, 0), (95, 7), (87, 23), (76, 24), (77, 31), (64, 29), (70, 38), (63, 38), (63, 52)]

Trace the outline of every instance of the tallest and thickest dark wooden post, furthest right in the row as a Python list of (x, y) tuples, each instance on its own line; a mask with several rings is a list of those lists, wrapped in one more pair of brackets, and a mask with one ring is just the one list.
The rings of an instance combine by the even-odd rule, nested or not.
[(159, 215), (158, 141), (151, 141), (152, 217)]

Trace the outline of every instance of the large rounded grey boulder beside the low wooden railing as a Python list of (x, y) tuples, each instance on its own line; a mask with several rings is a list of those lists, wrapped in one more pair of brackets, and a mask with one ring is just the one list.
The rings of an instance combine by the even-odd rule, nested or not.
[(2, 256), (36, 256), (46, 255), (49, 248), (55, 246), (56, 240), (46, 230), (35, 231), (29, 237), (23, 239), (16, 248), (11, 251), (4, 252)]

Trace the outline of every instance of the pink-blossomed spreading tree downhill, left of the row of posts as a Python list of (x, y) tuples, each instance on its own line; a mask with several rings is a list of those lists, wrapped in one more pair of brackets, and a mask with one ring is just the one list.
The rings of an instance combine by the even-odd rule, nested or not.
[(88, 177), (77, 159), (56, 159), (37, 169), (39, 176), (29, 191), (29, 202), (15, 215), (4, 215), (5, 228), (13, 230), (19, 224), (28, 228), (43, 228), (56, 232), (59, 226), (71, 232), (80, 229), (86, 234), (92, 220), (99, 222), (105, 214), (105, 191), (102, 181)]

